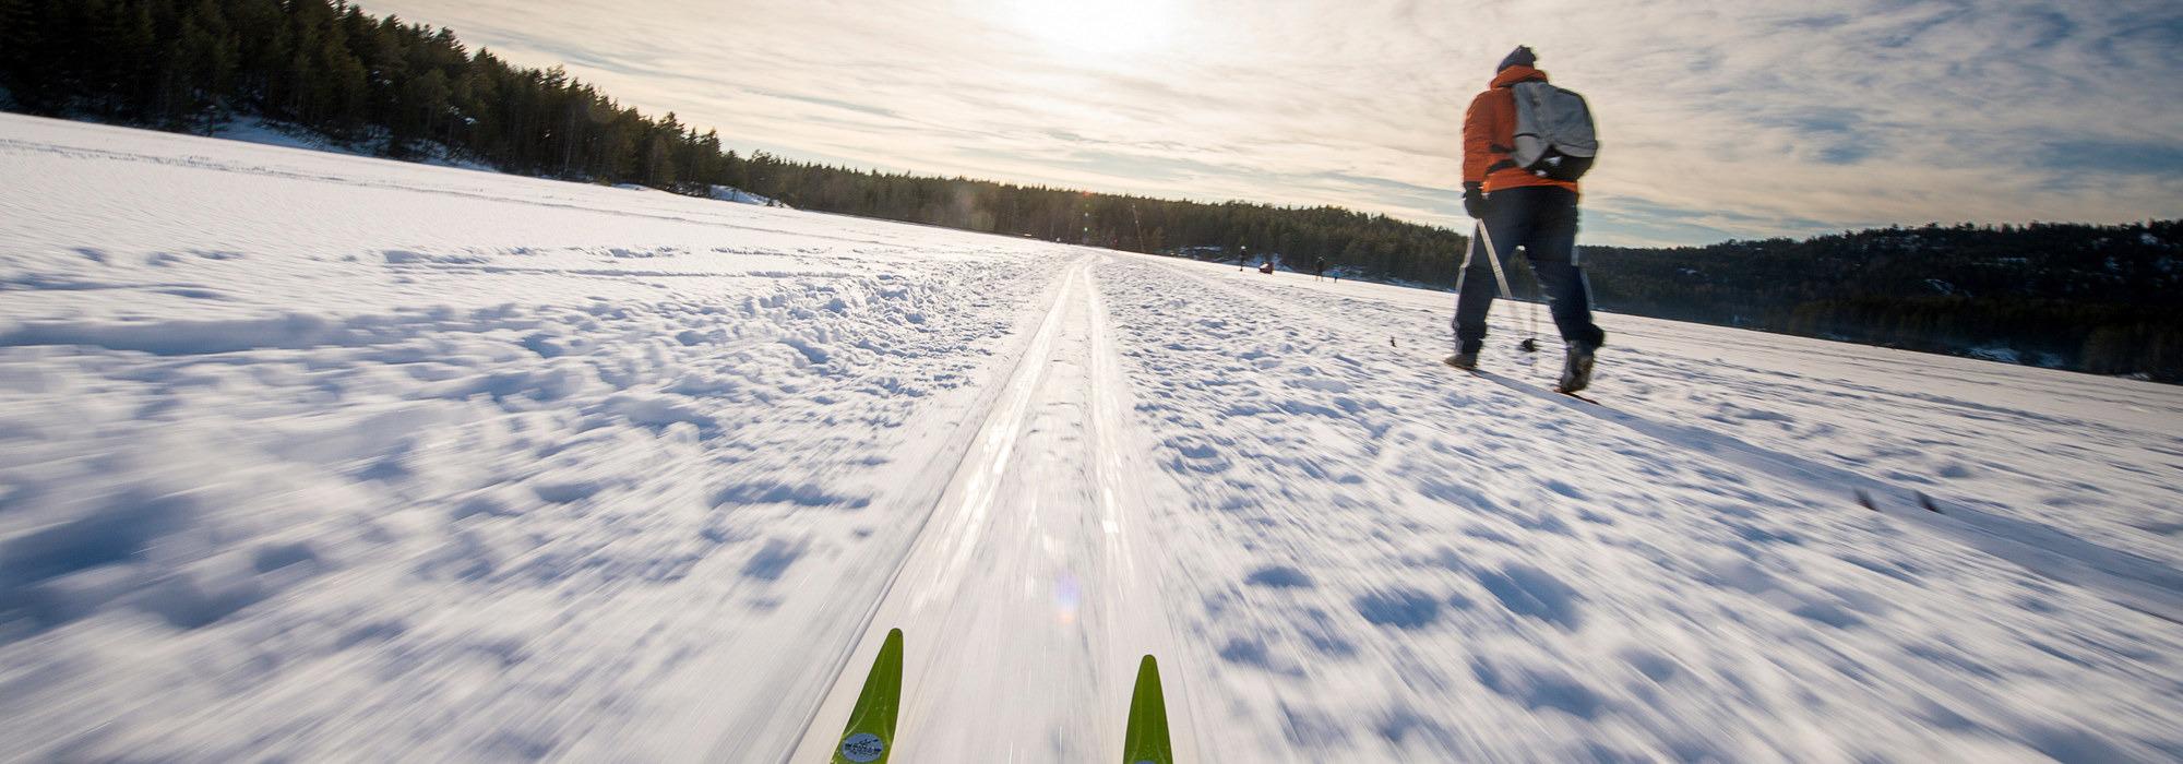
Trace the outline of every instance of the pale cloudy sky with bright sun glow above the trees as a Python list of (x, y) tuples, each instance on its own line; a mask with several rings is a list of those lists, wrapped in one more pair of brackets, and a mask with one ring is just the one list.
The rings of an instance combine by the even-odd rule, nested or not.
[(1583, 242), (2183, 216), (2183, 2), (362, 0), (729, 146), (1467, 227), (1517, 44), (1585, 94)]

